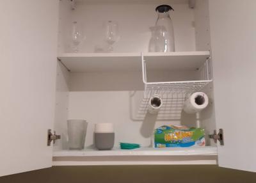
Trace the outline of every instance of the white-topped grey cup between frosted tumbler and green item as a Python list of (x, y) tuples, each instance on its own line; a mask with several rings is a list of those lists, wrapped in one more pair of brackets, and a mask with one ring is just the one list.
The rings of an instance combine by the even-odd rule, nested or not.
[(95, 147), (99, 150), (111, 150), (115, 143), (113, 123), (97, 123), (94, 130)]

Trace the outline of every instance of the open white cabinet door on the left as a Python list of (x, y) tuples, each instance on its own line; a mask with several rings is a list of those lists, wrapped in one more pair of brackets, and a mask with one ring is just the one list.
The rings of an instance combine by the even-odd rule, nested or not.
[(1, 1), (0, 21), (1, 176), (52, 165), (58, 0)]

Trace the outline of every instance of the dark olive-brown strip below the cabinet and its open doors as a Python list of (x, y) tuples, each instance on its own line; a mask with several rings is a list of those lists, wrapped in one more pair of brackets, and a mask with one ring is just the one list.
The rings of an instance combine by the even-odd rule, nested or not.
[(212, 165), (172, 166), (55, 166), (0, 177), (0, 183), (256, 183), (256, 173)]

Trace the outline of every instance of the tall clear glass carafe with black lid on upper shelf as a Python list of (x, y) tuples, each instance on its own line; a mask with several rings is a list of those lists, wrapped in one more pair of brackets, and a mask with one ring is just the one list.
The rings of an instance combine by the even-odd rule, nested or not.
[(163, 52), (175, 51), (173, 24), (172, 24), (172, 19), (170, 17), (170, 12), (172, 10), (173, 8), (166, 4), (156, 7), (156, 12), (157, 12), (156, 26), (163, 26), (165, 29), (165, 31), (163, 32), (163, 36), (166, 42), (164, 45), (165, 49)]

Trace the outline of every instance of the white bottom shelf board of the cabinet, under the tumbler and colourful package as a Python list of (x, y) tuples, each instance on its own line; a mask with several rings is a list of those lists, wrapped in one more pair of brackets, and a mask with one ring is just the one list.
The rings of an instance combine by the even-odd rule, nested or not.
[(53, 165), (216, 164), (216, 147), (59, 150)]

